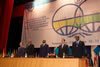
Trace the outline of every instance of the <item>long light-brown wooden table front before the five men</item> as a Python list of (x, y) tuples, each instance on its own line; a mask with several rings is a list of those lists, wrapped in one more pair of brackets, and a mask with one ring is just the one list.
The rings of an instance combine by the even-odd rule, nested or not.
[(0, 67), (86, 67), (86, 58), (0, 58)]

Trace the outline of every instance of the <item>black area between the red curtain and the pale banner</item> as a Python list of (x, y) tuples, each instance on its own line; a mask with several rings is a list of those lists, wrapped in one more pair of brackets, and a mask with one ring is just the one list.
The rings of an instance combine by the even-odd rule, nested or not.
[(17, 17), (11, 20), (7, 48), (17, 49), (21, 41), (23, 17)]

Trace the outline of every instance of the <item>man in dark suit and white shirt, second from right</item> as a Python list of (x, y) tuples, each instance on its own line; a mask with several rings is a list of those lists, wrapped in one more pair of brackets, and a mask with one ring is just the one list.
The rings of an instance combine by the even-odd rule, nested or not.
[(68, 56), (68, 45), (65, 44), (65, 39), (61, 40), (61, 45), (58, 47), (58, 57)]

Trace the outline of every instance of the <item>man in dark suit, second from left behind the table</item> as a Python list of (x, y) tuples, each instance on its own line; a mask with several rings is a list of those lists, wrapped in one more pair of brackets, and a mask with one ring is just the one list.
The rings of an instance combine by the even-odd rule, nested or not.
[(30, 40), (28, 42), (28, 47), (26, 48), (27, 56), (28, 57), (34, 57), (34, 44), (32, 44), (32, 41)]

